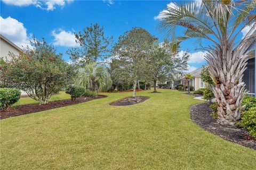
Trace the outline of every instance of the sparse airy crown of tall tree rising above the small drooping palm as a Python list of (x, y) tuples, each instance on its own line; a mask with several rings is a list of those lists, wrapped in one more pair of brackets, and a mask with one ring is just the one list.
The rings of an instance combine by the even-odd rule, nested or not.
[(90, 27), (75, 33), (77, 48), (67, 50), (70, 59), (79, 65), (90, 62), (103, 63), (109, 57), (110, 45), (113, 37), (106, 37), (104, 28), (99, 24), (91, 24)]

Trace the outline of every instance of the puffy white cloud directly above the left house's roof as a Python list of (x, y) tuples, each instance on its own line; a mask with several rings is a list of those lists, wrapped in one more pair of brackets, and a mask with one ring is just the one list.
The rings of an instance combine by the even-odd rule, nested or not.
[(17, 46), (30, 46), (27, 29), (24, 27), (22, 22), (19, 22), (10, 16), (6, 19), (0, 16), (0, 28), (0, 33), (10, 39)]

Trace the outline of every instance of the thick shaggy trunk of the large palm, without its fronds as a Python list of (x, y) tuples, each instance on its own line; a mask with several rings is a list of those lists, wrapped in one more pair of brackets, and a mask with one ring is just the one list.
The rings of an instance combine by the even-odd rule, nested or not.
[(223, 47), (222, 52), (212, 50), (206, 56), (209, 72), (215, 83), (212, 88), (218, 102), (218, 120), (222, 125), (234, 125), (241, 118), (242, 100), (246, 94), (245, 83), (242, 81), (246, 69), (247, 57), (245, 49), (235, 52)]

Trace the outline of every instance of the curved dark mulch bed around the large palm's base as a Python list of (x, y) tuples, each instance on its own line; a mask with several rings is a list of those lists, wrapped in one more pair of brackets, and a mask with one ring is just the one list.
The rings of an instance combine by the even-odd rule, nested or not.
[[(256, 140), (249, 140), (249, 133), (243, 129), (223, 126), (212, 118), (212, 109), (209, 103), (202, 103), (190, 107), (191, 120), (204, 130), (207, 130), (219, 137), (238, 143), (239, 145), (256, 150)], [(252, 139), (252, 138), (251, 138)]]

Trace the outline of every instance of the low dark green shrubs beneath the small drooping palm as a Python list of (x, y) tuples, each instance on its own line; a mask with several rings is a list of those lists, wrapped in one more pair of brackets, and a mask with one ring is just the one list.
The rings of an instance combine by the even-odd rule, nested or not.
[(82, 86), (68, 86), (66, 89), (66, 94), (71, 96), (71, 100), (75, 100), (78, 97), (96, 97), (98, 96), (97, 92), (85, 89)]

